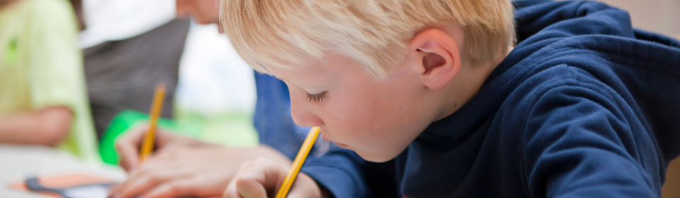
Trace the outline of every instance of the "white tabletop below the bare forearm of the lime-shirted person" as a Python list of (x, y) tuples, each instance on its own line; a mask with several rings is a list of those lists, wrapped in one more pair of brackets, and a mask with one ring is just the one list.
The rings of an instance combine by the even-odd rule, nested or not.
[(67, 152), (44, 146), (0, 144), (0, 197), (45, 198), (40, 194), (21, 192), (8, 187), (30, 176), (91, 174), (123, 181), (125, 172), (110, 165), (94, 165), (78, 161)]

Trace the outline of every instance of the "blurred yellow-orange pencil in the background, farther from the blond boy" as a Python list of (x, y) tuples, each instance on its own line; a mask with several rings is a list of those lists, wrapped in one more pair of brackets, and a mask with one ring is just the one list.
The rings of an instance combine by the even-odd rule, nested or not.
[(158, 123), (158, 117), (163, 111), (163, 102), (165, 101), (165, 84), (158, 83), (156, 85), (156, 92), (154, 93), (154, 101), (151, 105), (151, 123), (149, 124), (149, 132), (144, 138), (142, 143), (142, 149), (140, 150), (140, 162), (145, 161), (151, 155), (151, 151), (154, 148), (154, 140), (156, 139), (156, 125)]

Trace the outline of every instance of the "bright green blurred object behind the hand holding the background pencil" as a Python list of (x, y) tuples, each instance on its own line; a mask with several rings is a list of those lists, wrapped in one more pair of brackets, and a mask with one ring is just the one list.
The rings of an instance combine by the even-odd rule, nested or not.
[[(130, 127), (136, 124), (149, 122), (149, 115), (134, 110), (124, 110), (113, 117), (111, 124), (101, 137), (99, 144), (99, 155), (104, 163), (111, 165), (118, 165), (118, 151), (115, 151), (115, 142), (128, 132)], [(181, 133), (187, 136), (196, 137), (200, 134), (200, 130), (181, 127), (172, 120), (160, 118), (158, 120), (158, 127), (166, 131)]]

